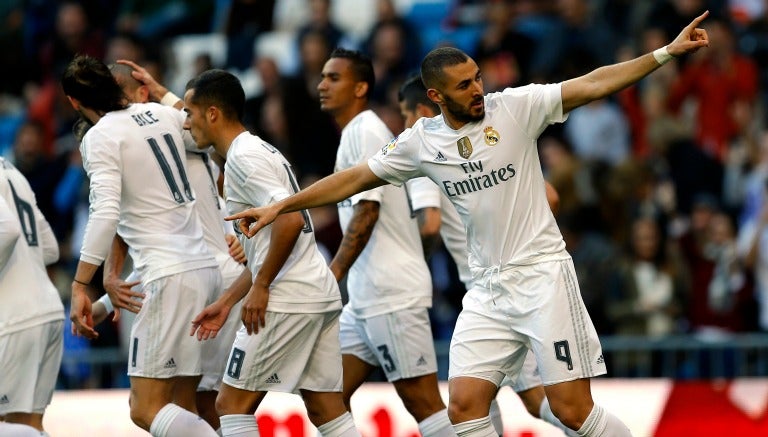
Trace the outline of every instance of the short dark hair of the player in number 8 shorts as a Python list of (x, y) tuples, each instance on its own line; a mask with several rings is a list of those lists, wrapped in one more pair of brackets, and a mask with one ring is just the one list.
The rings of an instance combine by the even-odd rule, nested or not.
[(245, 91), (234, 74), (219, 69), (206, 70), (187, 83), (187, 90), (190, 89), (195, 90), (193, 104), (215, 106), (225, 117), (242, 121)]

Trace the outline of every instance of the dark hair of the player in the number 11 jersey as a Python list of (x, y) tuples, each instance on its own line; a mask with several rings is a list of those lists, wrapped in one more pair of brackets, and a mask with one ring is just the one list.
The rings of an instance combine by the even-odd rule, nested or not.
[(64, 94), (96, 112), (107, 113), (128, 106), (123, 90), (109, 68), (88, 55), (77, 55), (72, 59), (61, 77), (61, 87)]

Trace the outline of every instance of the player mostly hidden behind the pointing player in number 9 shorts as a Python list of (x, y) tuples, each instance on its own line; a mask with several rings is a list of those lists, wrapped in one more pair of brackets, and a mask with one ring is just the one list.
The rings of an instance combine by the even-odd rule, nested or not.
[[(440, 114), (440, 107), (429, 99), (427, 88), (418, 76), (408, 79), (400, 87), (398, 100), (400, 101), (400, 114), (403, 116), (406, 128), (412, 127), (422, 117), (432, 118)], [(408, 182), (411, 185), (429, 184), (436, 186), (434, 182), (426, 177), (411, 179)], [(547, 202), (550, 209), (555, 212), (559, 201), (557, 191), (549, 182), (545, 182), (545, 184)], [(464, 225), (461, 223), (461, 217), (456, 212), (456, 208), (451, 205), (448, 197), (440, 194), (440, 190), (437, 190), (434, 194), (428, 190), (422, 190), (422, 192), (427, 193), (427, 195), (411, 196), (411, 206), (419, 219), (422, 241), (425, 242), (425, 247), (428, 248), (433, 247), (434, 244), (431, 242), (438, 238), (438, 236), (442, 237), (443, 244), (456, 263), (459, 279), (464, 283), (466, 289), (469, 290), (472, 288), (472, 273), (470, 272), (467, 259), (467, 234), (464, 231)], [(518, 378), (512, 380), (509, 377), (505, 377), (502, 382), (503, 385), (508, 385), (520, 396), (523, 405), (525, 405), (525, 408), (533, 417), (551, 423), (568, 436), (576, 435), (575, 431), (564, 426), (552, 414), (544, 393), (544, 387), (541, 384), (536, 357), (532, 351), (528, 351), (526, 354), (525, 362)], [(504, 435), (501, 411), (495, 399), (491, 402), (490, 417), (496, 433)]]

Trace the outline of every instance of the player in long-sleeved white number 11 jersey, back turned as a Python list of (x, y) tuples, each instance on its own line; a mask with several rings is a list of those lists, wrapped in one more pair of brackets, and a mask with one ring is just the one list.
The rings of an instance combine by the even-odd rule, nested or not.
[(221, 274), (194, 209), (183, 114), (156, 103), (128, 105), (108, 67), (88, 56), (76, 56), (61, 83), (93, 124), (80, 144), (91, 205), (72, 282), (72, 330), (97, 336), (87, 287), (120, 235), (145, 295), (131, 327), (131, 419), (155, 436), (215, 436), (195, 413), (202, 348), (186, 331)]

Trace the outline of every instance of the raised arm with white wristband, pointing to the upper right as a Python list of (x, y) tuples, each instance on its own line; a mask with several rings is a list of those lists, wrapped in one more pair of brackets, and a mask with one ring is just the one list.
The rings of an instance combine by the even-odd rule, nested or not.
[(707, 32), (697, 27), (707, 15), (709, 11), (699, 15), (686, 26), (680, 35), (665, 47), (667, 54), (663, 53), (664, 49), (660, 49), (662, 52), (647, 53), (631, 61), (600, 67), (584, 76), (563, 82), (563, 112), (570, 112), (632, 85), (669, 60), (669, 55), (677, 57), (708, 46)]

